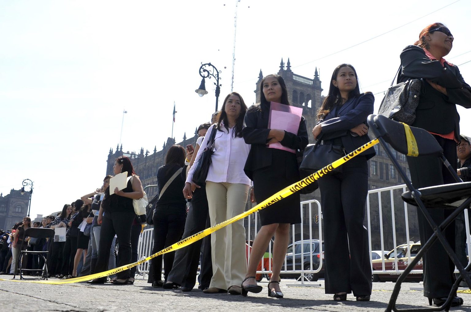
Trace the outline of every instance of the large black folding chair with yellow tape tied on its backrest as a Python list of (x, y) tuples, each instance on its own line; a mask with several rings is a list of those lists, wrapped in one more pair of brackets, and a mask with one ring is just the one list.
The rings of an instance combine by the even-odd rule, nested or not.
[[(456, 182), (454, 184), (445, 184), (433, 187), (423, 187), (423, 188), (414, 188), (411, 181), (408, 179), (406, 173), (398, 164), (396, 158), (392, 155), (390, 148), (386, 145), (389, 143), (392, 148), (397, 150), (400, 153), (408, 154), (408, 146), (410, 147), (410, 141), (406, 138), (406, 130), (404, 124), (398, 123), (394, 120), (388, 119), (385, 116), (381, 115), (370, 115), (368, 116), (368, 125), (370, 130), (373, 131), (376, 138), (380, 141), (382, 147), (388, 154), (392, 163), (396, 166), (399, 174), (402, 179), (406, 182), (406, 185), (409, 191), (402, 194), (402, 199), (411, 205), (417, 206), (419, 213), (422, 213), (425, 219), (428, 221), (430, 226), (434, 230), (434, 234), (430, 239), (422, 243), (421, 250), (417, 253), (414, 260), (406, 267), (404, 272), (399, 276), (394, 290), (391, 294), (391, 298), (386, 308), (386, 311), (443, 311), (450, 308), (451, 301), (454, 297), (456, 289), (458, 289), (459, 283), (464, 279), (468, 285), (471, 285), (471, 274), (470, 274), (470, 265), (466, 268), (463, 267), (458, 257), (456, 257), (453, 248), (450, 246), (448, 241), (443, 235), (445, 228), (450, 225), (459, 214), (463, 214), (464, 209), (466, 209), (471, 203), (471, 182), (462, 182), (461, 179), (456, 174), (456, 171), (447, 161), (447, 158), (443, 155), (443, 149), (435, 140), (435, 138), (428, 133), (427, 131), (410, 127), (413, 140), (416, 141), (416, 149), (418, 155), (415, 156), (436, 156), (441, 159), (443, 164), (447, 167), (448, 171), (455, 177)], [(453, 209), (454, 211), (439, 225), (433, 221), (430, 217), (429, 212), (425, 207), (430, 208), (441, 208), (441, 209)], [(460, 272), (460, 276), (455, 281), (452, 289), (450, 289), (450, 294), (448, 295), (447, 300), (442, 306), (439, 307), (430, 307), (430, 308), (413, 308), (413, 309), (398, 309), (396, 308), (396, 300), (399, 295), (399, 290), (401, 289), (401, 283), (406, 279), (407, 274), (414, 268), (417, 262), (422, 258), (422, 256), (430, 249), (430, 246), (436, 241), (443, 245), (449, 257), (452, 259), (453, 263), (456, 265)]]

